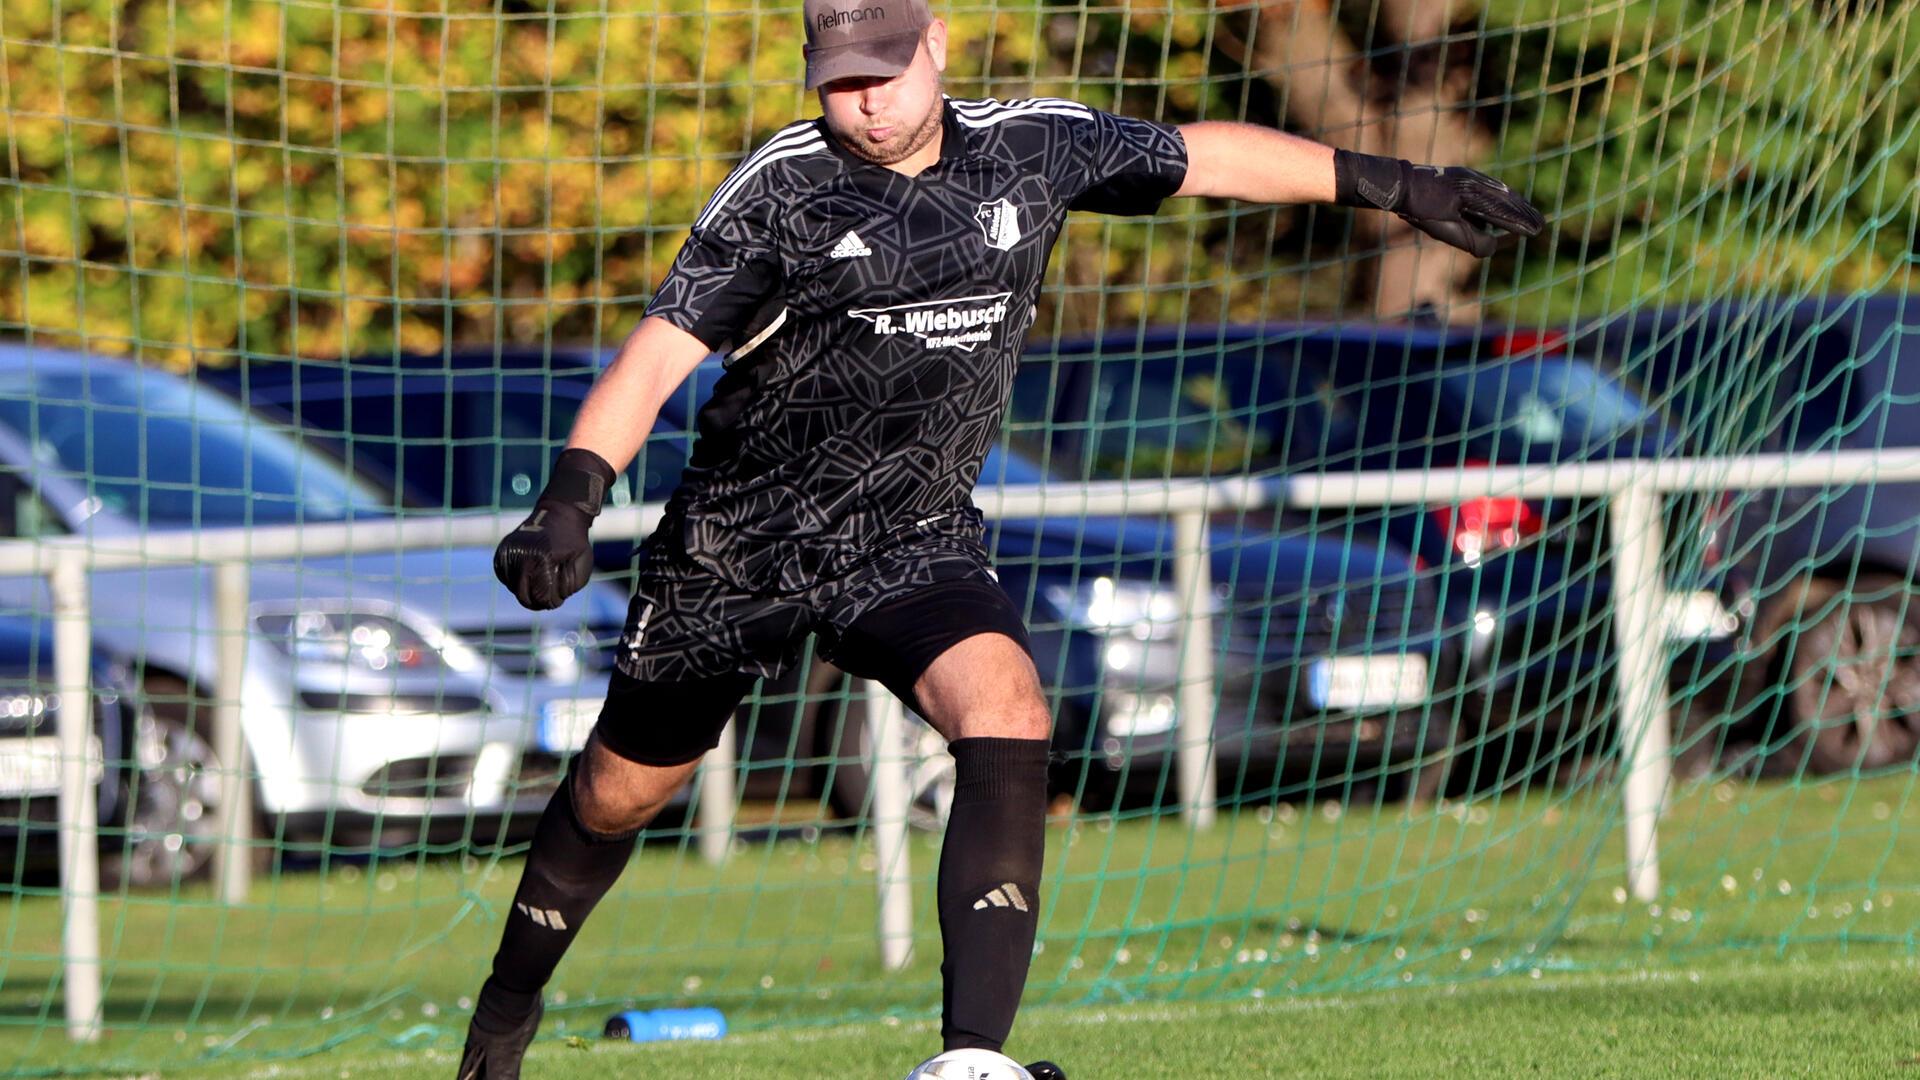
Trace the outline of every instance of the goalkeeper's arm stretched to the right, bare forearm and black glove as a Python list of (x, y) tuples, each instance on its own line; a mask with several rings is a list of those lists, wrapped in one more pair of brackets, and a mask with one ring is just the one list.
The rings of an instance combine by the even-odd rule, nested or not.
[(1354, 154), (1233, 121), (1181, 125), (1181, 138), (1187, 179), (1175, 196), (1386, 209), (1476, 258), (1494, 254), (1496, 231), (1532, 236), (1546, 227), (1546, 217), (1507, 184), (1459, 165)]

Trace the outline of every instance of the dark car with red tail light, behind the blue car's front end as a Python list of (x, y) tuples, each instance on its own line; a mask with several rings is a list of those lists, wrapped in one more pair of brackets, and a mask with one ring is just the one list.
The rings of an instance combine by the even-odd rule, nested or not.
[[(1023, 365), (1016, 446), (1083, 480), (1478, 469), (1661, 457), (1674, 429), (1617, 373), (1553, 338), (1427, 327), (1187, 327), (1068, 342)], [(1670, 530), (1709, 530), (1711, 500), (1672, 500)], [(1469, 736), (1482, 776), (1524, 769), (1488, 736), (1549, 751), (1605, 738), (1613, 669), (1603, 500), (1471, 498), (1315, 507), (1273, 528), (1369, 528), (1432, 567), (1461, 642)], [(1715, 669), (1740, 632), (1740, 580), (1690, 567), (1668, 580), (1676, 680)], [(1565, 753), (1563, 753), (1565, 755)], [(1515, 761), (1540, 765), (1538, 753)]]

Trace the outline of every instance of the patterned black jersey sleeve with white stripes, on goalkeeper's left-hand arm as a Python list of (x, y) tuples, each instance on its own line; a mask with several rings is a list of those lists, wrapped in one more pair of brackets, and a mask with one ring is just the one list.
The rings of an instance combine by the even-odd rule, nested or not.
[(714, 352), (732, 352), (764, 321), (781, 286), (780, 200), (768, 173), (778, 169), (756, 167), (749, 158), (722, 181), (647, 315), (666, 319)]

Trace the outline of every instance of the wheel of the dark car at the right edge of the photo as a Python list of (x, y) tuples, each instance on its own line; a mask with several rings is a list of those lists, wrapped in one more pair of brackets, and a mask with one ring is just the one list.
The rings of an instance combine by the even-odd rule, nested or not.
[(1809, 584), (1801, 611), (1820, 615), (1788, 646), (1795, 746), (1814, 773), (1903, 765), (1920, 748), (1920, 607), (1841, 592)]

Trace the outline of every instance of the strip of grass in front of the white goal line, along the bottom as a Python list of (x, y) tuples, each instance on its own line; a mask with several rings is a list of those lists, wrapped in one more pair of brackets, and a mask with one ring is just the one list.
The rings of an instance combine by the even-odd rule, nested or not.
[[(1715, 969), (1332, 994), (1288, 1001), (1043, 1007), (1008, 1049), (1071, 1080), (1250, 1076), (1887, 1076), (1920, 1068), (1910, 961), (1837, 957)], [(528, 1080), (870, 1076), (939, 1049), (933, 1022), (755, 1032), (718, 1043), (547, 1040)], [(204, 1076), (451, 1076), (445, 1051), (328, 1053)]]

